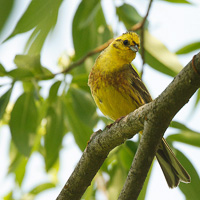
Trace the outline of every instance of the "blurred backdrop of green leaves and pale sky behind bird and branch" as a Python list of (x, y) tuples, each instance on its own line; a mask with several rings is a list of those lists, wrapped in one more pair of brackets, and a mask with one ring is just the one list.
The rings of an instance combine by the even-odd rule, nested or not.
[[(0, 0), (0, 199), (55, 199), (93, 131), (111, 123), (87, 86), (101, 44), (130, 30), (148, 0)], [(153, 98), (199, 52), (200, 2), (154, 0), (133, 62)], [(141, 52), (140, 52), (141, 53)], [(67, 73), (60, 73), (69, 69)], [(58, 73), (58, 74), (57, 74)], [(165, 133), (191, 175), (169, 189), (155, 161), (139, 199), (199, 199), (200, 91)], [(117, 199), (139, 137), (115, 148), (82, 199)]]

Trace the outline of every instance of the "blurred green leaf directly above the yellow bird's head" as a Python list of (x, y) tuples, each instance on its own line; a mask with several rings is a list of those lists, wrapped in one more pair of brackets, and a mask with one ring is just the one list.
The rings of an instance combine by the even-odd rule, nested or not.
[(124, 23), (128, 30), (143, 20), (137, 10), (133, 6), (126, 3), (117, 7), (116, 13), (119, 16), (119, 20)]

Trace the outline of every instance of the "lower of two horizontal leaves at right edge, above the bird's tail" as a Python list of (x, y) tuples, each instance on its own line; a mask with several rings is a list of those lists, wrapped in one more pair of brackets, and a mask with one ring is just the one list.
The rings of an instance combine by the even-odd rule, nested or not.
[(196, 147), (200, 147), (200, 133), (183, 131), (179, 134), (169, 135), (167, 140), (182, 142)]

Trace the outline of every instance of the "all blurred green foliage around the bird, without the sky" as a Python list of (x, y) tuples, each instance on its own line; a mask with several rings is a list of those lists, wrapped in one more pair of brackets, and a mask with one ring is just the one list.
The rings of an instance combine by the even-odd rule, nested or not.
[[(190, 4), (189, 1), (169, 1), (171, 3)], [(13, 0), (0, 0), (0, 31), (5, 28), (6, 21), (12, 14)], [(9, 78), (9, 83), (1, 82), (0, 90), (0, 119), (1, 126), (8, 125), (12, 135), (10, 142), (9, 174), (15, 174), (15, 182), (18, 188), (13, 187), (5, 195), (4, 199), (14, 199), (14, 192), (21, 191), (20, 199), (34, 199), (41, 192), (56, 187), (57, 179), (43, 182), (32, 190), (24, 193), (21, 189), (27, 173), (27, 164), (38, 152), (45, 161), (46, 173), (52, 170), (58, 173), (59, 153), (62, 149), (62, 141), (69, 132), (73, 134), (76, 144), (83, 151), (90, 136), (99, 122), (106, 125), (106, 118), (99, 116), (92, 100), (87, 78), (89, 71), (97, 55), (91, 56), (84, 63), (74, 68), (69, 74), (63, 74), (60, 78), (50, 67), (41, 64), (41, 51), (47, 37), (58, 23), (58, 15), (63, 1), (58, 0), (32, 0), (18, 20), (14, 30), (7, 36), (4, 43), (17, 35), (30, 32), (25, 45), (23, 55), (16, 55), (15, 68), (7, 69), (0, 64), (0, 77)], [(115, 7), (115, 17), (123, 23), (127, 30), (142, 21), (135, 7), (123, 3)], [(66, 20), (66, 19), (65, 19)], [(186, 54), (200, 48), (199, 42), (189, 44), (175, 53), (150, 34), (148, 25), (145, 24), (144, 50), (145, 62), (155, 70), (175, 76), (182, 68), (177, 54)], [(118, 33), (117, 33), (118, 34)], [(72, 38), (75, 53), (69, 63), (64, 64), (64, 69), (79, 60), (89, 51), (105, 43), (114, 35), (112, 26), (108, 25), (100, 0), (82, 0), (76, 9), (72, 22)], [(57, 66), (57, 71), (61, 70)], [(47, 97), (43, 94), (42, 83), (49, 81), (51, 85)], [(12, 94), (17, 93), (16, 84), (22, 85), (22, 93), (18, 92), (15, 102)], [(9, 85), (9, 87), (8, 87)], [(7, 88), (6, 90), (4, 88)], [(200, 101), (198, 92), (195, 106)], [(200, 133), (189, 129), (180, 122), (173, 122), (171, 127), (178, 133), (170, 135), (167, 139), (173, 145), (174, 141), (200, 147)], [(2, 134), (2, 133), (1, 133)], [(103, 179), (105, 192), (109, 199), (117, 198), (120, 189), (126, 179), (128, 170), (136, 152), (138, 142), (127, 141), (124, 145), (114, 149), (100, 169), (95, 180), (86, 191), (85, 199), (95, 199), (98, 191), (104, 191), (99, 186), (99, 180)], [(180, 185), (180, 189), (186, 198), (198, 199), (199, 177), (196, 169), (182, 152), (176, 151), (177, 156), (192, 176), (192, 184)], [(144, 199), (150, 178), (150, 172), (139, 199)], [(105, 176), (108, 176), (108, 180)]]

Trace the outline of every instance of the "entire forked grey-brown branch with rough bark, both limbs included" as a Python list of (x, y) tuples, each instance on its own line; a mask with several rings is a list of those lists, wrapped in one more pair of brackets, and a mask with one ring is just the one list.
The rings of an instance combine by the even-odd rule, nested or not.
[(110, 128), (94, 133), (57, 200), (80, 199), (109, 152), (144, 128), (138, 151), (119, 196), (119, 200), (137, 199), (170, 121), (200, 87), (199, 73), (200, 53), (157, 99), (130, 113)]

